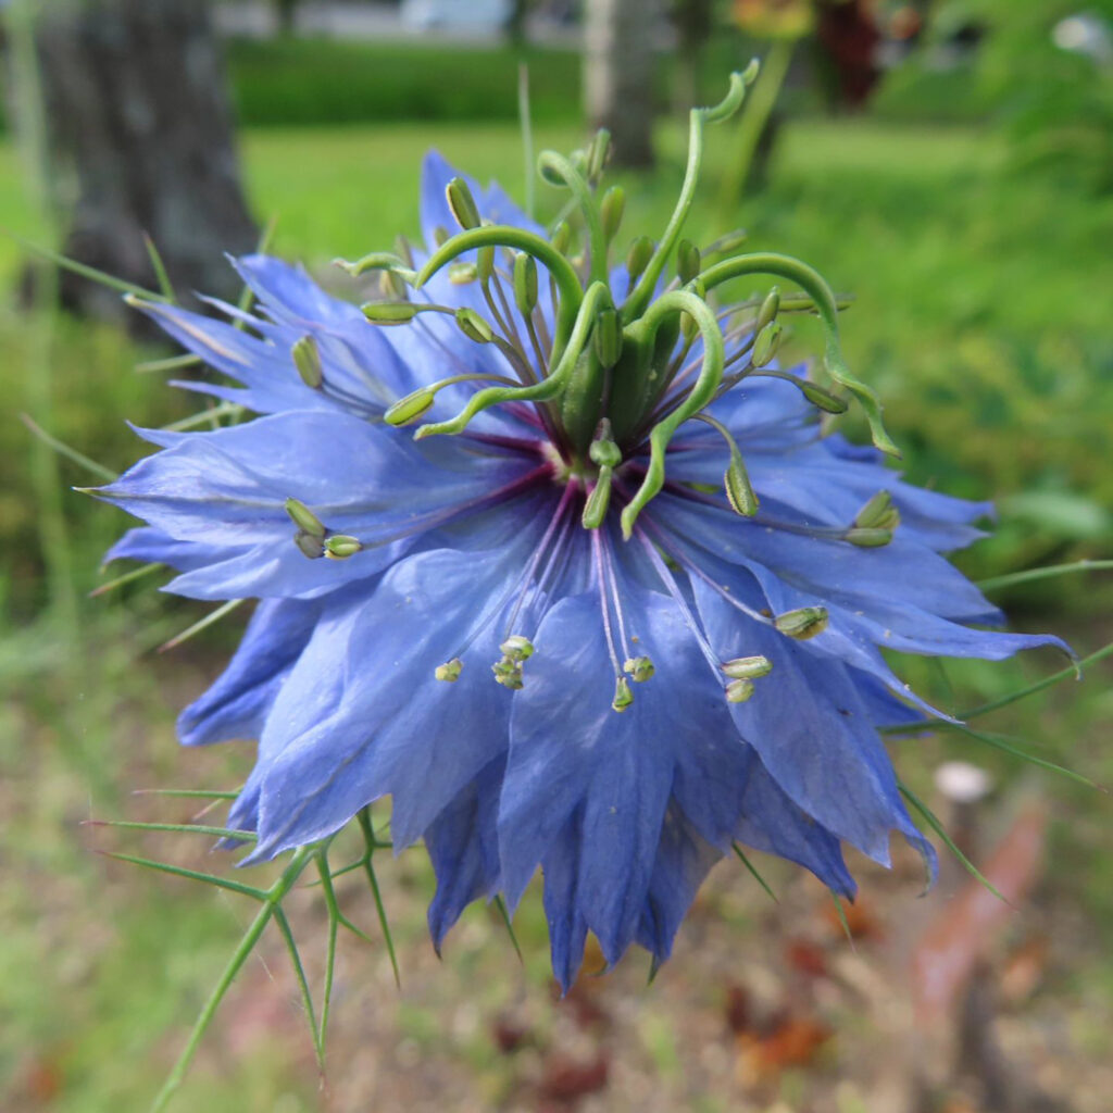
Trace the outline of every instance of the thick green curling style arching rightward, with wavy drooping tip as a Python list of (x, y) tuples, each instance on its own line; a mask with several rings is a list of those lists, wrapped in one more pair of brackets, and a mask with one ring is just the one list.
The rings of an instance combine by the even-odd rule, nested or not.
[(710, 292), (716, 286), (745, 275), (776, 275), (788, 282), (796, 283), (816, 304), (816, 312), (824, 326), (826, 338), (824, 349), (824, 366), (827, 374), (845, 386), (857, 400), (869, 422), (869, 432), (874, 444), (890, 456), (900, 457), (900, 452), (885, 431), (881, 421), (881, 404), (877, 395), (860, 380), (850, 374), (843, 357), (843, 346), (839, 343), (838, 305), (830, 286), (812, 267), (789, 255), (777, 255), (774, 252), (755, 252), (750, 255), (739, 255), (733, 259), (723, 259), (708, 267), (689, 283), (689, 288), (698, 287)]

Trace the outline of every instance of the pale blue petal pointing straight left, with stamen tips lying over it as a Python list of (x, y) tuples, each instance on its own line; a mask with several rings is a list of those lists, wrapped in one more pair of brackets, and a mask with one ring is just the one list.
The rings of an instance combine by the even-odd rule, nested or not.
[[(454, 439), (426, 451), (405, 432), (346, 414), (285, 413), (213, 433), (145, 435), (169, 447), (101, 494), (171, 538), (232, 550), (170, 585), (205, 599), (321, 594), (372, 575), (405, 551), (407, 538), (535, 464), (482, 456)], [(367, 548), (345, 561), (307, 560), (294, 544), (287, 498)]]

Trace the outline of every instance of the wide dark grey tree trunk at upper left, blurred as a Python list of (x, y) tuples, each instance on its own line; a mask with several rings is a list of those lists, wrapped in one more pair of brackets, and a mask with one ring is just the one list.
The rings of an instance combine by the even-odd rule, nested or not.
[[(146, 233), (184, 298), (234, 297), (224, 254), (250, 250), (258, 234), (205, 0), (52, 3), (37, 37), (63, 254), (155, 288)], [(116, 294), (72, 274), (60, 297), (124, 317)]]

